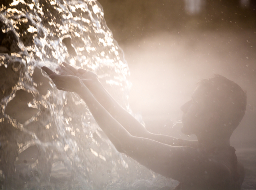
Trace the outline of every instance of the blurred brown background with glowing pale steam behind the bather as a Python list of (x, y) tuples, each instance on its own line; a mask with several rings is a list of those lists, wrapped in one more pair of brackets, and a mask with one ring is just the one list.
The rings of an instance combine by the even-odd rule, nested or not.
[[(129, 102), (146, 128), (172, 128), (200, 79), (221, 74), (247, 91), (247, 112), (231, 137), (256, 189), (256, 0), (98, 0), (130, 68)], [(195, 139), (195, 137), (190, 137)]]

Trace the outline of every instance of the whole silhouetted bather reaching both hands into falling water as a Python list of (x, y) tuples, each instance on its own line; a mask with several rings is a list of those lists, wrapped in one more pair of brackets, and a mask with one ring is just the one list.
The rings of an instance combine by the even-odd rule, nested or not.
[(77, 93), (115, 148), (165, 177), (180, 182), (177, 190), (240, 190), (243, 165), (230, 146), (242, 120), (246, 93), (231, 80), (215, 75), (199, 82), (181, 106), (182, 132), (198, 141), (152, 134), (104, 89), (97, 75), (62, 63), (61, 75), (42, 69), (57, 89)]

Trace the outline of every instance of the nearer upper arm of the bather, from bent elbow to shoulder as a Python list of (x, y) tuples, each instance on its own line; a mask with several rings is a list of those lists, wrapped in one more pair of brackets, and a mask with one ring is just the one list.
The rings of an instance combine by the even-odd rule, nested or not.
[(230, 180), (230, 171), (225, 165), (202, 158), (195, 148), (132, 136), (123, 152), (148, 169), (180, 182), (228, 183)]

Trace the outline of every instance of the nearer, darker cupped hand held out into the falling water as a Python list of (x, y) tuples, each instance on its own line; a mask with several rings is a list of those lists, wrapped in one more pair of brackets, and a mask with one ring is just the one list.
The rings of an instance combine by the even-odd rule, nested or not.
[(78, 93), (84, 85), (83, 82), (76, 76), (57, 75), (47, 67), (42, 67), (42, 69), (49, 75), (59, 90)]

